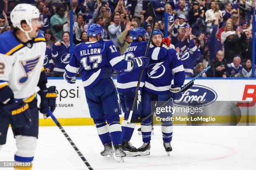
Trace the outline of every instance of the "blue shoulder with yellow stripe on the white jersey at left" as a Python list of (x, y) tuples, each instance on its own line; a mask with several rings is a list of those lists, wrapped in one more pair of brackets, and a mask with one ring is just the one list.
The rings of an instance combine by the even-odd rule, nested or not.
[(13, 31), (7, 31), (0, 35), (0, 53), (5, 55), (12, 55), (14, 52), (23, 48), (23, 43), (17, 40)]

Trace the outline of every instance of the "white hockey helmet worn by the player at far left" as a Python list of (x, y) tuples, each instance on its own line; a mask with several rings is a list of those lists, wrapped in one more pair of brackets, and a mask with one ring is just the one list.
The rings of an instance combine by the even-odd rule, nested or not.
[[(32, 19), (34, 18), (39, 18), (40, 13), (39, 10), (30, 4), (18, 4), (16, 5), (12, 12), (10, 13), (10, 19), (11, 22), (13, 23), (13, 27), (18, 27), (20, 30), (22, 30), (23, 32), (26, 33), (26, 36), (28, 37), (28, 39), (31, 40), (31, 37), (28, 36), (29, 32), (33, 31), (33, 27), (32, 27)], [(23, 28), (21, 28), (21, 21), (25, 20), (27, 25), (31, 28), (31, 30), (29, 31), (25, 31), (23, 30)]]

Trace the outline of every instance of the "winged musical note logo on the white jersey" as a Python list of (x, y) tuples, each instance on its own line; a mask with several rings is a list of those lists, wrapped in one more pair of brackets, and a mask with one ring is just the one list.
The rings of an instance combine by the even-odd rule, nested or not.
[(29, 73), (31, 73), (34, 70), (39, 59), (40, 55), (29, 60), (20, 61), (20, 65), (22, 66), (25, 75), (23, 77), (20, 77), (20, 79), (18, 80), (19, 83), (24, 83), (28, 80)]

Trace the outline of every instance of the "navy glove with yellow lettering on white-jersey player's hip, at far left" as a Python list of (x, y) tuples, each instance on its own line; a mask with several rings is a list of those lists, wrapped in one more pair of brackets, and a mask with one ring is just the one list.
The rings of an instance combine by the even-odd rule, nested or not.
[(5, 113), (10, 115), (11, 125), (14, 128), (29, 128), (31, 126), (32, 118), (28, 107), (28, 103), (24, 102), (23, 100), (19, 100), (18, 102), (13, 101), (3, 107)]

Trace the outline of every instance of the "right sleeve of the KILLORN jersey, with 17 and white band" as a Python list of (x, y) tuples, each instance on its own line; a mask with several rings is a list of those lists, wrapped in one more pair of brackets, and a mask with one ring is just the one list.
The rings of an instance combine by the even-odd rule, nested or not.
[(121, 55), (114, 43), (110, 40), (108, 43), (105, 43), (107, 48), (107, 57), (110, 62), (110, 65), (114, 70), (121, 71), (125, 70), (128, 67), (127, 60), (124, 59), (124, 55)]

